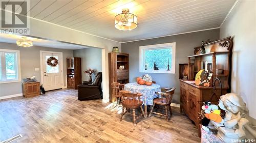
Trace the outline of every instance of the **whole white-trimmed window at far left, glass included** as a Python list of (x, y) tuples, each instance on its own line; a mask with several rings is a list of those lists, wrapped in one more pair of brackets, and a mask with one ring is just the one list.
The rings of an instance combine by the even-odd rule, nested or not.
[(19, 50), (0, 49), (0, 83), (20, 81)]

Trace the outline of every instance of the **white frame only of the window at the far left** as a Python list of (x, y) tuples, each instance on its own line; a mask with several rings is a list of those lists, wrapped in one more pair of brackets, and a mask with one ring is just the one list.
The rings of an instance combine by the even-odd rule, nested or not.
[(21, 81), (21, 74), (20, 74), (20, 53), (19, 50), (9, 50), (9, 49), (0, 49), (2, 52), (16, 52), (17, 55), (17, 80), (5, 80), (0, 81), (0, 84), (2, 83), (12, 83), (12, 82), (20, 82)]

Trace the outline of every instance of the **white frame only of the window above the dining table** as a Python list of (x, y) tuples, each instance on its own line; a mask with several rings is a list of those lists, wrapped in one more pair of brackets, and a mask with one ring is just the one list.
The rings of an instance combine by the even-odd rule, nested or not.
[[(172, 47), (172, 67), (169, 71), (164, 70), (144, 70), (145, 67), (143, 67), (143, 50), (144, 49), (161, 49), (166, 47)], [(169, 73), (169, 74), (175, 74), (175, 61), (176, 61), (176, 42), (173, 43), (164, 43), (164, 44), (156, 44), (156, 45), (146, 45), (146, 46), (140, 46), (140, 52), (139, 52), (140, 60), (139, 60), (139, 69), (140, 73)], [(167, 69), (167, 67), (166, 67)]]

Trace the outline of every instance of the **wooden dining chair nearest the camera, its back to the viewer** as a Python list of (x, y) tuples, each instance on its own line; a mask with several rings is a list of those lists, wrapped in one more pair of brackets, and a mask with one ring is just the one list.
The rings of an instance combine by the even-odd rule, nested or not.
[[(127, 91), (120, 91), (120, 95), (122, 98), (122, 113), (121, 113), (121, 117), (120, 117), (120, 121), (122, 121), (123, 115), (125, 115), (125, 113), (127, 113), (130, 109), (133, 110), (133, 125), (136, 126), (136, 119), (138, 119), (138, 117), (136, 117), (135, 115), (135, 109), (140, 107), (141, 113), (143, 115), (143, 117), (145, 118), (145, 114), (142, 108), (142, 104), (143, 102), (140, 100), (140, 96), (142, 96), (142, 94), (137, 93), (131, 93), (131, 92), (127, 92)], [(125, 110), (125, 112), (124, 112)]]

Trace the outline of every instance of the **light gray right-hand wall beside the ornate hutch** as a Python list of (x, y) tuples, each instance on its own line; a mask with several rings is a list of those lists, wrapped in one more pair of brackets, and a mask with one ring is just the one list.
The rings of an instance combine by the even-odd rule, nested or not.
[(239, 1), (220, 27), (220, 38), (233, 38), (231, 92), (242, 96), (256, 119), (256, 1)]

